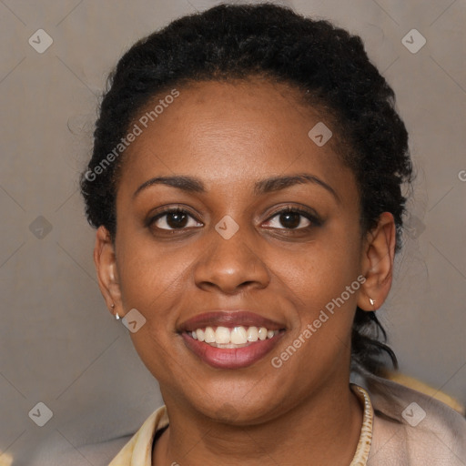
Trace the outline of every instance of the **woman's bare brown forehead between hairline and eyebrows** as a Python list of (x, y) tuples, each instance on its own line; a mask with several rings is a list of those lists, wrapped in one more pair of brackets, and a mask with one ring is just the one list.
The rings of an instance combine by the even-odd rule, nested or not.
[[(179, 86), (176, 93), (158, 95), (135, 118), (140, 134), (125, 152), (125, 185), (174, 174), (196, 175), (207, 185), (245, 186), (309, 169), (328, 179), (350, 174), (334, 150), (336, 128), (293, 86), (259, 78), (205, 81)], [(319, 146), (309, 131), (322, 124), (333, 136)]]

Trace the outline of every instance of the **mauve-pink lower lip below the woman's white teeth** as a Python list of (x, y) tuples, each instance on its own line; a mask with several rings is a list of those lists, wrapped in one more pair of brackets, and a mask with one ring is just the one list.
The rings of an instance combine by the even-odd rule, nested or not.
[(209, 366), (217, 369), (241, 369), (251, 366), (266, 356), (279, 342), (285, 332), (279, 332), (271, 339), (251, 342), (242, 348), (215, 348), (193, 339), (186, 332), (181, 335), (188, 349)]

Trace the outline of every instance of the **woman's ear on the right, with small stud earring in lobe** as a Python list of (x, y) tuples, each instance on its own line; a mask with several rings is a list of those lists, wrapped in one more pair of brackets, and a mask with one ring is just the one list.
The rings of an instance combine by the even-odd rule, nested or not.
[(395, 220), (389, 212), (384, 212), (380, 215), (377, 227), (368, 232), (364, 241), (362, 274), (366, 281), (360, 288), (360, 309), (379, 309), (387, 299), (392, 281), (395, 245)]

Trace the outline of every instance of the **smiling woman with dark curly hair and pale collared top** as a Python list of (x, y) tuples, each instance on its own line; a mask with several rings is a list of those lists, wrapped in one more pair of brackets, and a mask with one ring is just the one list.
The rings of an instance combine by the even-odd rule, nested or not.
[(82, 192), (106, 304), (165, 401), (111, 466), (466, 463), (465, 420), (380, 377), (411, 165), (360, 38), (220, 5), (110, 83)]

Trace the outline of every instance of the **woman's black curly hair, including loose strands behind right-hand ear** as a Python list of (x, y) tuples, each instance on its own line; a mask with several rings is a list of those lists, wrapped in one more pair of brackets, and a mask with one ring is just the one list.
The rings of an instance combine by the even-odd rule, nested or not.
[[(325, 109), (340, 140), (349, 143), (341, 155), (360, 190), (361, 231), (374, 227), (382, 212), (390, 212), (398, 250), (406, 203), (402, 187), (410, 184), (412, 167), (393, 90), (370, 63), (359, 36), (272, 4), (218, 5), (183, 16), (121, 57), (108, 76), (93, 155), (81, 176), (89, 223), (105, 226), (115, 238), (117, 174), (124, 152), (115, 163), (102, 163), (155, 96), (192, 82), (251, 76), (292, 85), (303, 91), (303, 102)], [(383, 374), (384, 355), (397, 368), (386, 338), (375, 313), (357, 308), (353, 369)]]

